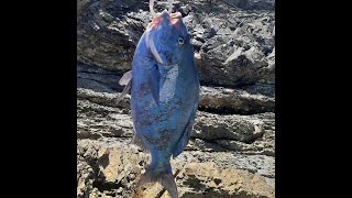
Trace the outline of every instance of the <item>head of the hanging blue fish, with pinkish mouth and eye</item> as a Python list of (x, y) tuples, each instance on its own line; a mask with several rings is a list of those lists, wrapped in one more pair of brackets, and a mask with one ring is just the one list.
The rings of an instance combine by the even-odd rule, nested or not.
[(158, 65), (178, 64), (185, 54), (193, 57), (190, 35), (179, 12), (164, 10), (150, 23), (145, 37), (150, 53)]

